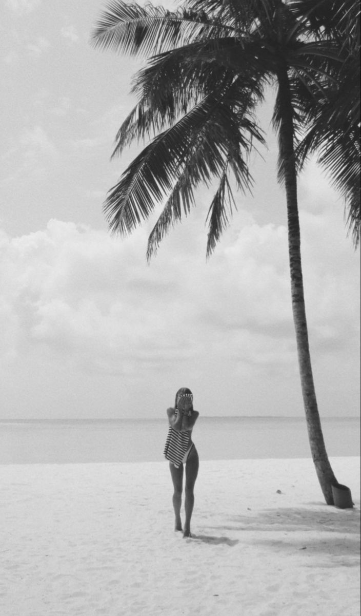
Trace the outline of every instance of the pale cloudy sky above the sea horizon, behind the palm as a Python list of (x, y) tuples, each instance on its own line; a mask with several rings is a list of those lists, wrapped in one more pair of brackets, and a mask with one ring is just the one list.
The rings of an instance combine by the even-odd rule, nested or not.
[[(205, 416), (301, 416), (285, 196), (268, 149), (210, 259), (206, 189), (146, 263), (106, 192), (140, 60), (93, 49), (101, 0), (1, 0), (0, 418), (161, 418), (179, 387)], [(315, 161), (299, 180), (309, 341), (322, 416), (359, 415), (360, 267)]]

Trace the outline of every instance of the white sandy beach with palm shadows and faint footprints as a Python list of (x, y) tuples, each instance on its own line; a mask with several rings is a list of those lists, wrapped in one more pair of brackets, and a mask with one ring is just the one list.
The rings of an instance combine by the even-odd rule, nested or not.
[[(200, 463), (191, 539), (165, 462), (0, 466), (2, 616), (356, 616), (360, 459)], [(281, 493), (279, 493), (279, 491)]]

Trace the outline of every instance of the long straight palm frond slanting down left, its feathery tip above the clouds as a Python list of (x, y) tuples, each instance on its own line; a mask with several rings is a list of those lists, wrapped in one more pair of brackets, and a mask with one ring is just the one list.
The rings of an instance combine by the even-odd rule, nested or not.
[(189, 149), (202, 137), (205, 127), (212, 128), (212, 134), (206, 133), (207, 148), (203, 158), (197, 158), (197, 172), (203, 182), (220, 174), (229, 152), (238, 152), (239, 147), (247, 150), (254, 138), (263, 140), (252, 120), (245, 117), (240, 123), (239, 116), (226, 105), (227, 95), (233, 90), (237, 92), (236, 84), (231, 84), (223, 95), (205, 97), (135, 158), (105, 202), (113, 232), (129, 233), (149, 216), (157, 202), (167, 197), (181, 176)]

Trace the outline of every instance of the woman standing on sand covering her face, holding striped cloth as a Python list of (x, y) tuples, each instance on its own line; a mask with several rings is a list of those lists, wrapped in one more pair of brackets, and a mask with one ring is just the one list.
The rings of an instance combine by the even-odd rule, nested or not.
[(191, 537), (191, 517), (194, 506), (194, 484), (196, 483), (199, 458), (192, 442), (192, 429), (199, 416), (193, 410), (193, 395), (187, 387), (181, 387), (175, 395), (175, 408), (168, 408), (169, 430), (165, 442), (164, 455), (169, 460), (174, 493), (173, 508), (175, 513), (175, 530), (183, 530), (181, 523), (181, 498), (183, 492), (183, 464), (186, 465), (186, 500), (184, 509), (183, 537)]

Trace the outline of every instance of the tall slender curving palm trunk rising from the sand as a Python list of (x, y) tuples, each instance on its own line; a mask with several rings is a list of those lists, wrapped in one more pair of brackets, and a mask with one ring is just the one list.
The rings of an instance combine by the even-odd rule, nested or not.
[(337, 484), (337, 480), (331, 469), (331, 464), (328, 460), (325, 448), (325, 442), (323, 440), (309, 352), (301, 267), (301, 237), (297, 203), (297, 176), (294, 153), (292, 99), (290, 95), (290, 84), (288, 81), (287, 69), (285, 67), (280, 68), (278, 81), (281, 116), (280, 162), (283, 165), (287, 198), (288, 256), (290, 259), (292, 312), (296, 330), (296, 344), (298, 365), (300, 368), (303, 405), (306, 413), (309, 444), (311, 447), (311, 454), (317, 477), (319, 479), (327, 505), (333, 505), (331, 486)]

